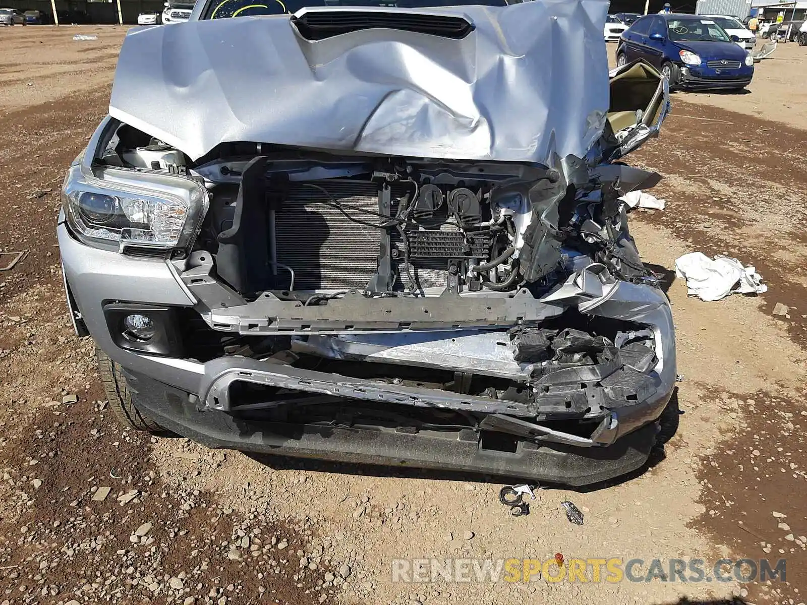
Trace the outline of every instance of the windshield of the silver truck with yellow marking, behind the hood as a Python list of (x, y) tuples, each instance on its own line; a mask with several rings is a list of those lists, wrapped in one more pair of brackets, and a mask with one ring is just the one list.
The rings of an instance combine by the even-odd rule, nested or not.
[[(516, 0), (521, 2), (521, 0)], [(211, 0), (202, 19), (224, 19), (250, 15), (285, 15), (303, 7), (381, 6), (432, 8), (437, 6), (507, 6), (512, 0)]]

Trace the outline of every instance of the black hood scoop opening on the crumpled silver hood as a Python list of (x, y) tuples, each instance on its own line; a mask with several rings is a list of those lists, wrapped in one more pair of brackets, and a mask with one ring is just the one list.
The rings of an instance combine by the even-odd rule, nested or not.
[(291, 23), (299, 35), (312, 42), (378, 28), (440, 35), (453, 40), (462, 40), (474, 31), (474, 24), (464, 17), (383, 9), (305, 9), (292, 16)]

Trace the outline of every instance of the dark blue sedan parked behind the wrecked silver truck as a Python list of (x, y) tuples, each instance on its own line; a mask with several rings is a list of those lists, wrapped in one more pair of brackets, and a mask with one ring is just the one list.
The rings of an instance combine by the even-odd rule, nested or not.
[(670, 87), (687, 90), (745, 88), (754, 60), (712, 19), (699, 15), (645, 15), (621, 35), (617, 65), (644, 59)]

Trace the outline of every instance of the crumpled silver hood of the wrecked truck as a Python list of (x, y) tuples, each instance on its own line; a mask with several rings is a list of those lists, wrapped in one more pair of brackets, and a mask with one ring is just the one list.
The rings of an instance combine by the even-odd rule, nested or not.
[(255, 141), (547, 165), (553, 152), (584, 156), (604, 126), (607, 9), (536, 0), (408, 10), (468, 19), (462, 40), (384, 27), (312, 42), (289, 15), (132, 29), (110, 115), (194, 160)]

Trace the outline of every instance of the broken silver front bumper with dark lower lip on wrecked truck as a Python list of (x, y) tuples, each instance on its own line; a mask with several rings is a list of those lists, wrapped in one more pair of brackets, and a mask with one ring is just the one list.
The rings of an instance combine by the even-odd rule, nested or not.
[[(105, 304), (123, 301), (193, 308), (198, 304), (194, 293), (165, 261), (87, 247), (70, 236), (64, 223), (57, 233), (69, 301), (76, 307), (71, 310), (73, 317), (80, 318), (98, 346), (122, 366), (130, 379), (137, 407), (165, 428), (210, 447), (518, 475), (583, 485), (625, 474), (646, 461), (654, 443), (654, 422), (675, 387), (674, 328), (667, 298), (659, 290), (627, 282), (620, 282), (608, 294), (609, 298), (589, 312), (650, 328), (655, 335), (659, 363), (637, 391), (635, 401), (621, 402), (591, 437), (543, 430), (535, 424), (535, 410), (503, 400), (346, 378), (247, 357), (218, 357), (201, 363), (190, 357), (137, 353), (116, 344), (105, 319)], [(252, 326), (249, 322), (243, 327), (245, 330)], [(237, 319), (231, 323), (233, 327), (240, 324)], [(525, 433), (517, 440), (515, 451), (500, 451), (486, 449), (483, 438), (472, 430), (446, 438), (368, 428), (246, 420), (231, 413), (232, 405), (237, 403), (231, 401), (228, 389), (233, 380), (330, 398), (489, 414), (488, 418), (499, 418), (505, 424), (513, 424), (516, 417), (516, 421), (526, 425)], [(592, 389), (592, 398), (599, 396), (601, 390), (600, 386)], [(531, 421), (522, 420), (530, 415)], [(517, 436), (519, 430), (511, 428), (508, 434)]]

